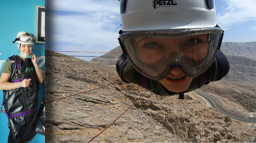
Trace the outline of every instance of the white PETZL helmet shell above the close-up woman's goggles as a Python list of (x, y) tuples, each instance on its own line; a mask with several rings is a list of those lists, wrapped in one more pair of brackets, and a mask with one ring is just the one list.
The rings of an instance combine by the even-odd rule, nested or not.
[(213, 0), (122, 0), (122, 31), (216, 26)]

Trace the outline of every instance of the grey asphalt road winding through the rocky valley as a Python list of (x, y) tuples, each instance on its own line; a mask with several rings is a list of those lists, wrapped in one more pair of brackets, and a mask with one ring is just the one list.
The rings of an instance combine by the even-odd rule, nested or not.
[(212, 95), (198, 91), (198, 90), (195, 90), (194, 92), (196, 92), (198, 95), (204, 97), (206, 100), (208, 100), (210, 102), (210, 104), (213, 108), (216, 108), (217, 110), (219, 110), (221, 113), (225, 114), (226, 116), (229, 116), (229, 117), (236, 119), (238, 121), (241, 121), (241, 122), (256, 123), (256, 117), (248, 117), (248, 119), (245, 119), (244, 118), (245, 116), (237, 115), (237, 114), (227, 111), (222, 106), (222, 104), (216, 98), (214, 98)]

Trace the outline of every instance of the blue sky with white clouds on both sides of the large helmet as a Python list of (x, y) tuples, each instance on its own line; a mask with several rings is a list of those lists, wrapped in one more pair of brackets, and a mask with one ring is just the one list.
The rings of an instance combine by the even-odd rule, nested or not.
[[(118, 0), (45, 0), (45, 49), (54, 51), (109, 52), (119, 46), (121, 29)], [(215, 0), (216, 21), (224, 29), (223, 42), (256, 41), (256, 0)], [(49, 16), (49, 17), (47, 17)], [(50, 33), (47, 34), (48, 30)], [(104, 53), (71, 53), (101, 56)], [(90, 61), (93, 57), (77, 57)]]

